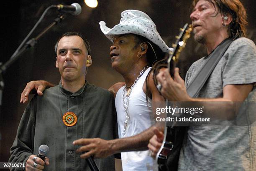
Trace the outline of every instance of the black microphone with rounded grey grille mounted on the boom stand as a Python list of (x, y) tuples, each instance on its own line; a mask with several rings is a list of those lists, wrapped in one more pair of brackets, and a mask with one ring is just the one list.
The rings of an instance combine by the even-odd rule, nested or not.
[(60, 12), (71, 13), (73, 15), (79, 15), (82, 11), (81, 5), (79, 3), (72, 3), (71, 5), (54, 5)]

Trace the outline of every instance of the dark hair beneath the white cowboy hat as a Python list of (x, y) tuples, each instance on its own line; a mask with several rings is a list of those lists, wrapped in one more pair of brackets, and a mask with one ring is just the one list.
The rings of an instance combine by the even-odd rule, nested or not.
[[(136, 42), (136, 45), (134, 48), (137, 48), (141, 43), (144, 43), (144, 42), (146, 42), (146, 43), (149, 42), (152, 45), (152, 47), (151, 47), (151, 45), (149, 45), (149, 43), (147, 43), (148, 50), (146, 53), (146, 59), (147, 59), (149, 66), (152, 66), (154, 64), (154, 62), (162, 60), (164, 58), (164, 52), (161, 50), (161, 48), (158, 45), (156, 45), (155, 43), (151, 42), (150, 40), (148, 40), (147, 38), (145, 38), (141, 35), (135, 35), (135, 34), (132, 34), (132, 35), (134, 35), (135, 42)], [(156, 53), (156, 55), (154, 52)]]

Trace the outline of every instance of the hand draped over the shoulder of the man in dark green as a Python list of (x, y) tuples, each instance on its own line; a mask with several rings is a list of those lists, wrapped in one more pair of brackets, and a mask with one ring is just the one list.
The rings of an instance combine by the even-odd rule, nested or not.
[(26, 103), (28, 102), (28, 95), (29, 93), (36, 93), (39, 96), (43, 95), (43, 91), (45, 88), (53, 87), (54, 85), (52, 83), (49, 83), (44, 80), (37, 80), (37, 81), (30, 81), (27, 83), (26, 87), (24, 88), (23, 92), (20, 95), (20, 103)]

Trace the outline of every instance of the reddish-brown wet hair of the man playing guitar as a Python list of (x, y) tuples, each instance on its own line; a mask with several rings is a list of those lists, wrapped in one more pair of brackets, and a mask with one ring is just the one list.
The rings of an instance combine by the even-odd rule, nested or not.
[[(199, 0), (193, 0), (192, 7), (194, 8)], [(207, 0), (213, 4), (216, 10), (220, 10), (221, 15), (229, 14), (232, 17), (232, 22), (228, 26), (229, 36), (233, 39), (241, 37), (243, 33), (246, 36), (247, 15), (243, 4), (239, 0)], [(214, 3), (215, 2), (215, 3)]]

